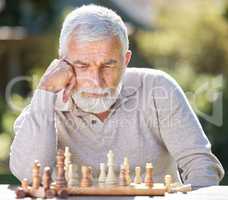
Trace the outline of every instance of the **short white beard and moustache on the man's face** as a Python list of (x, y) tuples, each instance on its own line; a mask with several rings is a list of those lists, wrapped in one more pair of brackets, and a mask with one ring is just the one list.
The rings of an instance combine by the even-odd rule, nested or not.
[[(84, 88), (76, 91), (72, 98), (75, 104), (85, 112), (90, 113), (102, 113), (107, 110), (116, 102), (122, 88), (122, 81), (118, 84), (114, 90), (112, 88)], [(94, 93), (94, 94), (108, 94), (103, 97), (86, 97), (82, 96), (82, 93)]]

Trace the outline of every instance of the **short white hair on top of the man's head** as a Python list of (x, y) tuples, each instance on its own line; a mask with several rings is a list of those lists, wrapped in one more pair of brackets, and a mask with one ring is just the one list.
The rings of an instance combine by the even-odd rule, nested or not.
[(71, 35), (85, 42), (117, 36), (122, 51), (126, 52), (129, 48), (127, 27), (123, 20), (114, 11), (102, 6), (83, 5), (66, 16), (59, 38), (59, 55), (66, 55)]

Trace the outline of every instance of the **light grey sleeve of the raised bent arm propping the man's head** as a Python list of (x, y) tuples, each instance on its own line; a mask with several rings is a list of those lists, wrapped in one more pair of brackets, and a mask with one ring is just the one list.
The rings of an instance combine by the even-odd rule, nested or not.
[(14, 123), (15, 137), (10, 149), (10, 170), (31, 182), (32, 166), (39, 160), (41, 170), (53, 167), (56, 155), (54, 105), (56, 94), (37, 89), (31, 103)]

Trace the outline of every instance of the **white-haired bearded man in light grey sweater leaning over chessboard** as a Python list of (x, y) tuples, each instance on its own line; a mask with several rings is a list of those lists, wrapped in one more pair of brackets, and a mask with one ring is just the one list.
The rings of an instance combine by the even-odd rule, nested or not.
[(154, 181), (166, 174), (193, 187), (219, 184), (223, 168), (178, 84), (164, 72), (127, 68), (127, 29), (110, 9), (87, 5), (72, 11), (60, 34), (55, 59), (17, 118), (10, 168), (31, 180), (38, 159), (55, 166), (57, 148), (69, 146), (73, 162), (95, 175), (108, 150), (116, 169), (154, 166)]

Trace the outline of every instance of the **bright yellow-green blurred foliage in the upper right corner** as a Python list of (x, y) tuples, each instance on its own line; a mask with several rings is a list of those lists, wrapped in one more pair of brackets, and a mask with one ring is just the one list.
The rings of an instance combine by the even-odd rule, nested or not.
[(225, 10), (212, 1), (192, 2), (160, 7), (157, 30), (139, 33), (138, 45), (155, 66), (188, 65), (201, 73), (223, 73), (228, 66)]

